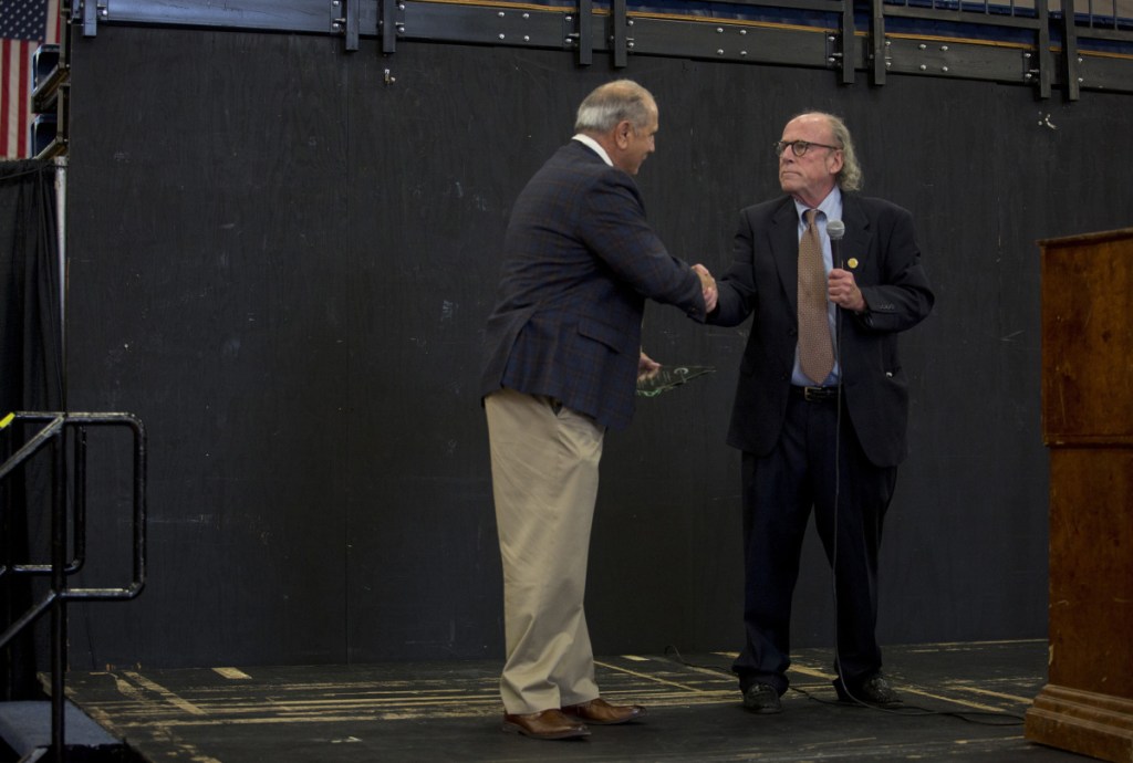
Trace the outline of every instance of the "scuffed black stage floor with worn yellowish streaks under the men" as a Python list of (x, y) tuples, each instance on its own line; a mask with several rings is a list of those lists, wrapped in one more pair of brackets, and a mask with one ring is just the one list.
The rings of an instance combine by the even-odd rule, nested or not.
[(729, 654), (598, 661), (612, 702), (641, 722), (544, 741), (500, 730), (500, 662), (218, 667), (71, 672), (71, 700), (146, 761), (1088, 761), (1026, 741), (1045, 641), (889, 646), (905, 701), (840, 704), (828, 650), (802, 650), (784, 712), (743, 711)]

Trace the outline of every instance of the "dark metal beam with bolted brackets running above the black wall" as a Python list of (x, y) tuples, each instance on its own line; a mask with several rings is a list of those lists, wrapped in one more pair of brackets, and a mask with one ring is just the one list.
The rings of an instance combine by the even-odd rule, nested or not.
[[(1133, 10), (1066, 11), (1059, 0), (688, 0), (679, 11), (648, 0), (68, 0), (83, 36), (102, 24), (176, 25), (341, 36), (357, 51), (376, 38), (383, 54), (399, 43), (454, 42), (556, 49), (591, 66), (596, 52), (615, 68), (632, 55), (830, 69), (849, 85), (867, 72), (1015, 83), (1048, 98), (1082, 89), (1133, 92)], [(1030, 5), (1026, 5), (1030, 2)], [(1055, 6), (1055, 9), (1051, 9)]]

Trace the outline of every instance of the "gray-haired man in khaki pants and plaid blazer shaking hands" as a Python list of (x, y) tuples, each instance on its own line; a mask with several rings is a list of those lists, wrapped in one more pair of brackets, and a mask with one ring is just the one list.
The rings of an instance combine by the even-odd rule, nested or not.
[(630, 80), (578, 110), (577, 135), (511, 212), (480, 392), (504, 580), (503, 729), (539, 739), (640, 718), (599, 697), (582, 598), (607, 428), (630, 422), (646, 299), (704, 322), (715, 286), (666, 251), (633, 182), (657, 104)]

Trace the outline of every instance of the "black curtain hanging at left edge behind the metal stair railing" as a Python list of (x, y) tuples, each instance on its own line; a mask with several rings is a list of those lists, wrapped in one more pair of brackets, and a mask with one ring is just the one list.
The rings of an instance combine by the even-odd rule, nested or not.
[[(0, 420), (65, 405), (56, 178), (50, 161), (0, 162)], [(28, 436), (18, 422), (0, 429), (0, 463)], [(34, 539), (46, 531), (49, 477), (50, 464), (37, 456), (0, 481), (3, 631), (28, 610), (36, 588), (12, 565), (46, 561), (32, 558), (32, 549), (42, 548)], [(33, 633), (22, 633), (0, 653), (0, 700), (37, 694), (35, 644)]]

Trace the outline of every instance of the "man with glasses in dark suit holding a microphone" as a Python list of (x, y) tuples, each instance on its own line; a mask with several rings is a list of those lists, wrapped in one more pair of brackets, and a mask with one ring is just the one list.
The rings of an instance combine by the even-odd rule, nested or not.
[(721, 326), (752, 316), (727, 432), (742, 452), (746, 571), (747, 637), (732, 669), (747, 710), (782, 711), (813, 509), (834, 571), (837, 695), (894, 706), (875, 628), (881, 524), (908, 449), (897, 336), (934, 294), (910, 213), (854, 192), (861, 169), (841, 119), (800, 114), (775, 152), (785, 196), (740, 213), (708, 316)]

